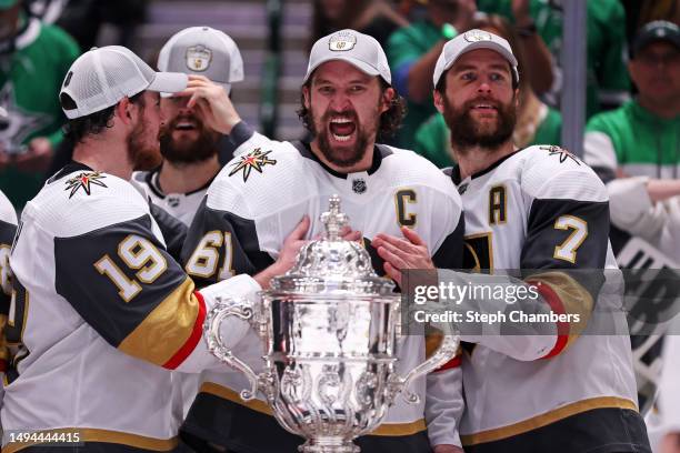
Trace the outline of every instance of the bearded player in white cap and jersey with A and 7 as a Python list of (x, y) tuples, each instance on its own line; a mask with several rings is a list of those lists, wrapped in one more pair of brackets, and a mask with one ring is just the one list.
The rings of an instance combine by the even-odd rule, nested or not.
[[(538, 335), (501, 335), (503, 330), (491, 326), (481, 336), (462, 335), (470, 343), (462, 355), (463, 449), (649, 452), (637, 410), (630, 340), (626, 331), (601, 328), (626, 325), (616, 298), (602, 296), (616, 294), (609, 279), (602, 282), (603, 269), (616, 270), (607, 191), (566, 150), (513, 148), (518, 78), (508, 42), (481, 30), (449, 41), (437, 62), (434, 105), (451, 129), (458, 162), (447, 173), (463, 201), (464, 266), (501, 274), (439, 270), (439, 279), (504, 283), (514, 285), (516, 294), (532, 285), (538, 296), (523, 301), (522, 310), (561, 313), (571, 322), (543, 323)], [(381, 234), (373, 244), (393, 269), (434, 266), (427, 254), (413, 253), (396, 238)], [(502, 276), (506, 270), (523, 280)], [(399, 273), (391, 276), (400, 281)], [(502, 300), (466, 300), (461, 306), (489, 313), (518, 310)], [(579, 335), (586, 323), (593, 330)], [(536, 329), (528, 323), (519, 328)]]

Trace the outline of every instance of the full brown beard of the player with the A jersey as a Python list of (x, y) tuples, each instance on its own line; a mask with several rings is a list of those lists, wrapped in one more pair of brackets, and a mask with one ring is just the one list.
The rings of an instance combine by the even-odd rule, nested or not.
[[(472, 118), (471, 108), (480, 102), (489, 103), (496, 108), (498, 120), (494, 127), (489, 128), (480, 124)], [(466, 102), (460, 109), (451, 105), (449, 99), (444, 97), (443, 108), (444, 121), (451, 131), (451, 144), (461, 152), (474, 147), (490, 150), (498, 149), (512, 137), (514, 124), (517, 123), (514, 95), (512, 95), (512, 100), (507, 104), (478, 98)]]

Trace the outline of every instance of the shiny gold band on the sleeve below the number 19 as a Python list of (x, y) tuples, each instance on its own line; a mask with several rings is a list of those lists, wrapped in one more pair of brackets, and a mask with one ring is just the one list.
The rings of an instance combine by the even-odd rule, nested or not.
[(187, 278), (118, 345), (126, 354), (157, 365), (167, 363), (187, 343), (199, 313), (193, 281)]

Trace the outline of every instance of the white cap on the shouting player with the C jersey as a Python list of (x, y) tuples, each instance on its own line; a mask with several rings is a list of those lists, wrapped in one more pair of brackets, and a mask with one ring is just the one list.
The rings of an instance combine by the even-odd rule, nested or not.
[(390, 67), (380, 43), (373, 37), (349, 29), (336, 31), (314, 42), (302, 83), (307, 83), (314, 69), (331, 60), (347, 61), (369, 76), (380, 76), (392, 83)]

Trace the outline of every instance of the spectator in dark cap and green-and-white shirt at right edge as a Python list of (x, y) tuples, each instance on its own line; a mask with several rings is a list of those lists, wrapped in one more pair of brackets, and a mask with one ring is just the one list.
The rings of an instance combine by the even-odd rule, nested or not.
[(628, 70), (638, 97), (588, 122), (584, 160), (607, 184), (613, 225), (680, 261), (678, 26), (646, 24), (633, 42)]

